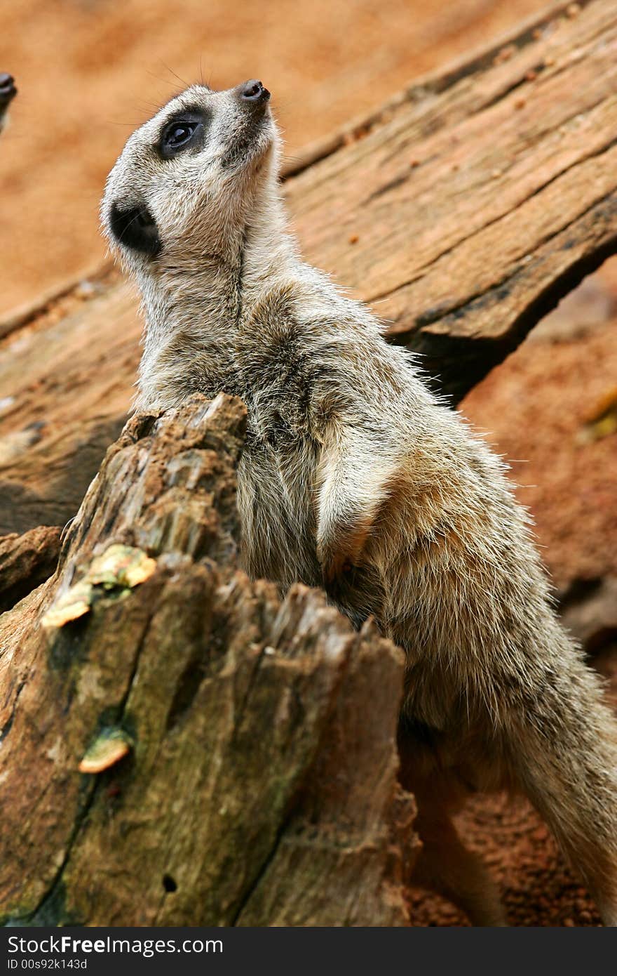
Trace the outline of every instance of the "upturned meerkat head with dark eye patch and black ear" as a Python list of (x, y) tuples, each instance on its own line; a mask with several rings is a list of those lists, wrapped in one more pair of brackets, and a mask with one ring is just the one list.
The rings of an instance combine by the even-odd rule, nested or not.
[(187, 254), (225, 259), (276, 185), (278, 133), (260, 81), (193, 85), (131, 136), (105, 186), (101, 220), (135, 271)]

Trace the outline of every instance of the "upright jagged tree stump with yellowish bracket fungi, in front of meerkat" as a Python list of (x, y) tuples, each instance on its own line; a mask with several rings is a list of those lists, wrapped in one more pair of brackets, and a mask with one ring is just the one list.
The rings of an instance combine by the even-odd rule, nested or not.
[(244, 429), (222, 395), (135, 417), (0, 617), (5, 921), (407, 922), (403, 655), (239, 571)]

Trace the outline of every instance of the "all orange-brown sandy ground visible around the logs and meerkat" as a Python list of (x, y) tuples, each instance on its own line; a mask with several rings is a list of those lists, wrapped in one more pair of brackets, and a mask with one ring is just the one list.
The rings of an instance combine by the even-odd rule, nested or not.
[[(175, 90), (261, 77), (288, 152), (378, 104), (545, 6), (543, 0), (20, 0), (5, 5), (0, 69), (19, 84), (0, 142), (0, 314), (103, 255), (97, 202), (128, 134)], [(179, 76), (179, 77), (178, 77)], [(463, 410), (513, 467), (560, 589), (617, 574), (617, 264), (467, 398)], [(617, 415), (616, 415), (617, 416)], [(606, 422), (608, 417), (608, 422)], [(617, 686), (617, 652), (601, 668)], [(596, 924), (545, 827), (524, 803), (479, 798), (460, 819), (504, 890), (514, 924)], [(465, 924), (409, 893), (414, 923)]]

